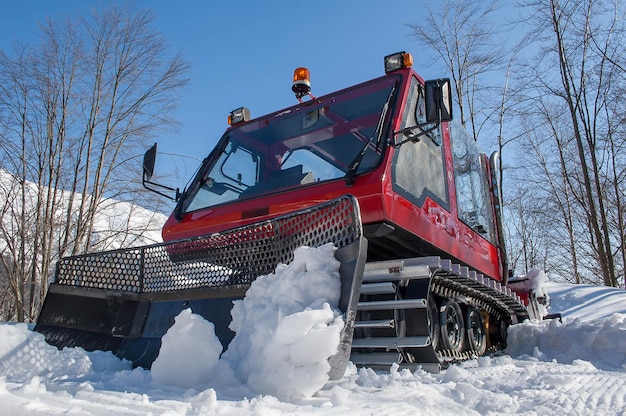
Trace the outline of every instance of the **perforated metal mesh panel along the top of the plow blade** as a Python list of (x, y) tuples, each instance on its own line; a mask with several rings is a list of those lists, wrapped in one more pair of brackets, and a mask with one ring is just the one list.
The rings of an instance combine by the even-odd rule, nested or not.
[(56, 283), (136, 293), (249, 284), (300, 246), (341, 248), (361, 235), (358, 203), (344, 196), (211, 236), (63, 258)]

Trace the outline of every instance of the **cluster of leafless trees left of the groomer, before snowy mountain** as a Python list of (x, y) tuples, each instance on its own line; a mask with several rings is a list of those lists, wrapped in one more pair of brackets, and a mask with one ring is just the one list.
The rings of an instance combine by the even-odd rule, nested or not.
[(113, 4), (0, 51), (0, 250), (18, 321), (36, 316), (55, 259), (94, 249), (98, 213), (138, 190), (137, 156), (173, 123), (187, 65), (152, 21)]

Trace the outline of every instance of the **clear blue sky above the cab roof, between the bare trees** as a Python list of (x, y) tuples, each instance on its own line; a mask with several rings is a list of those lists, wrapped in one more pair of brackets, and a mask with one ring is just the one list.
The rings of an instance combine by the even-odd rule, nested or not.
[[(150, 8), (155, 29), (182, 51), (191, 81), (175, 116), (182, 126), (157, 137), (157, 174), (183, 187), (227, 127), (228, 113), (245, 106), (252, 117), (296, 103), (291, 77), (311, 70), (312, 92), (323, 95), (383, 74), (383, 57), (406, 50), (425, 78), (449, 76), (421, 50), (408, 23), (417, 23), (427, 0), (172, 1), (137, 0)], [(0, 48), (35, 41), (38, 22), (89, 12), (91, 0), (6, 1)], [(183, 155), (171, 157), (167, 154)], [(138, 175), (140, 169), (138, 166)], [(161, 176), (159, 175), (159, 176)]]

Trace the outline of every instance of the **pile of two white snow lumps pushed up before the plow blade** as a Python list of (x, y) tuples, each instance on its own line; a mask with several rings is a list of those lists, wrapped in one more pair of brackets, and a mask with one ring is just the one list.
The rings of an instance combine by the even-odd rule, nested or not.
[(163, 337), (153, 378), (198, 388), (232, 385), (234, 372), (256, 393), (312, 396), (328, 381), (328, 358), (344, 325), (334, 250), (332, 244), (301, 247), (292, 263), (259, 277), (235, 302), (230, 328), (236, 336), (221, 360), (213, 324), (183, 311)]

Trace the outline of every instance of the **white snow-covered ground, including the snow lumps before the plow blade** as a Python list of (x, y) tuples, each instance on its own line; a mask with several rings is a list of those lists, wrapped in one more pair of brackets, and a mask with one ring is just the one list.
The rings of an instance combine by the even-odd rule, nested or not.
[(328, 289), (336, 279), (327, 248), (302, 251), (235, 307), (238, 335), (225, 356), (212, 324), (186, 311), (152, 372), (108, 353), (57, 351), (27, 325), (0, 324), (0, 414), (626, 414), (623, 290), (549, 284), (550, 312), (563, 323), (516, 325), (507, 354), (440, 374), (349, 366), (327, 381), (341, 327)]

